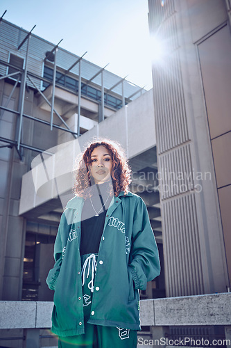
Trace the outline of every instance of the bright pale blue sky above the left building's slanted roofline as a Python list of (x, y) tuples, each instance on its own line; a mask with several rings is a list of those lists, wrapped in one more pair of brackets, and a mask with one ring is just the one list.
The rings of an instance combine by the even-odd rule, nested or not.
[(148, 0), (1, 0), (0, 17), (152, 88)]

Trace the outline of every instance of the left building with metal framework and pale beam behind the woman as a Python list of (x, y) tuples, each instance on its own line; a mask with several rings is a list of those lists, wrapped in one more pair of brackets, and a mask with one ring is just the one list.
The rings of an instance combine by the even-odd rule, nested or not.
[[(0, 30), (0, 298), (52, 301), (45, 279), (74, 159), (96, 136), (126, 150), (130, 189), (146, 200), (162, 255), (152, 90), (4, 19)], [(165, 296), (164, 271), (142, 293), (153, 296)]]

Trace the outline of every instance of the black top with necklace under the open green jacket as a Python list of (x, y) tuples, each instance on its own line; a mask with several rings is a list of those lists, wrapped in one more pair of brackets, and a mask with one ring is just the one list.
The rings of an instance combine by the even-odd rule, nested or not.
[(105, 215), (112, 200), (109, 182), (96, 184), (91, 191), (92, 197), (85, 199), (81, 215), (80, 255), (99, 253)]

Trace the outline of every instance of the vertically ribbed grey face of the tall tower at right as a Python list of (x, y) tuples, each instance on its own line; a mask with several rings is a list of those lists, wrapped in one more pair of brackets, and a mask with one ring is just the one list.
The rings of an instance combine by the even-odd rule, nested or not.
[[(161, 6), (150, 0), (149, 19), (151, 34), (166, 48), (153, 63), (158, 168), (175, 175), (173, 180), (163, 177), (161, 193), (166, 294), (225, 292), (230, 281), (199, 49), (205, 38), (227, 24), (225, 1), (180, 0)], [(216, 50), (214, 45), (214, 54)], [(214, 54), (207, 52), (206, 68), (209, 59), (216, 59)], [(221, 56), (225, 54), (223, 49)], [(210, 67), (210, 88), (220, 64), (215, 60)], [(225, 90), (227, 95), (230, 88)], [(224, 125), (217, 113), (216, 123)]]

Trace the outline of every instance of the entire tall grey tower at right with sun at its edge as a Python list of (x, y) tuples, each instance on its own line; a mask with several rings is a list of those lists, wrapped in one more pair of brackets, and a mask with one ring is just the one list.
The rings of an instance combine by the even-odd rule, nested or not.
[(229, 292), (230, 1), (148, 6), (166, 296)]

